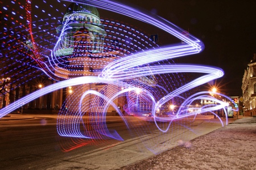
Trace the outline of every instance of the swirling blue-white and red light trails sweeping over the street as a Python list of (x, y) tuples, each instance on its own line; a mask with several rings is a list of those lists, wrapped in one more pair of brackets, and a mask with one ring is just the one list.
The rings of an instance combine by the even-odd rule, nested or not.
[[(62, 4), (66, 7), (62, 1), (57, 2), (57, 5)], [(126, 114), (138, 117), (143, 121), (154, 122), (161, 133), (167, 133), (175, 120), (182, 120), (189, 116), (196, 117), (199, 113), (211, 112), (216, 114), (214, 111), (219, 109), (223, 109), (226, 113), (225, 108), (228, 106), (226, 101), (232, 102), (228, 96), (215, 93), (215, 95), (225, 99), (224, 102), (220, 100), (220, 97), (217, 99), (209, 92), (198, 92), (196, 94), (192, 92), (193, 88), (224, 75), (221, 69), (202, 65), (180, 64), (172, 61), (177, 57), (200, 53), (204, 49), (204, 44), (199, 39), (193, 35), (184, 36), (184, 29), (157, 15), (141, 12), (122, 3), (107, 0), (72, 0), (67, 2), (89, 3), (90, 6), (129, 16), (166, 31), (166, 33), (177, 37), (182, 43), (159, 47), (144, 33), (125, 23), (110, 19), (98, 20), (96, 17), (95, 20), (90, 21), (90, 24), (93, 27), (97, 26), (98, 32), (105, 36), (105, 44), (97, 47), (86, 44), (86, 50), (81, 53), (80, 46), (76, 45), (79, 43), (78, 40), (68, 40), (65, 35), (72, 25), (79, 23), (73, 14), (65, 15), (65, 19), (61, 19), (61, 16), (53, 16), (47, 8), (42, 8), (36, 3), (33, 5), (34, 1), (27, 0), (26, 5), (11, 1), (13, 6), (19, 7), (19, 12), (0, 1), (4, 5), (1, 10), (11, 11), (10, 14), (1, 12), (3, 21), (6, 22), (3, 26), (3, 33), (1, 33), (2, 48), (6, 48), (6, 50), (1, 52), (1, 57), (8, 58), (6, 59), (7, 62), (13, 62), (14, 58), (9, 56), (22, 56), (18, 59), (15, 58), (15, 62), (10, 63), (14, 66), (15, 63), (20, 63), (18, 72), (13, 74), (16, 71), (14, 69), (8, 70), (5, 74), (16, 76), (22, 74), (29, 81), (42, 75), (42, 72), (39, 72), (40, 70), (49, 78), (60, 81), (27, 95), (6, 108), (2, 108), (0, 118), (19, 108), (20, 105), (24, 105), (49, 92), (70, 86), (82, 89), (84, 88), (83, 84), (90, 83), (107, 85), (102, 86), (100, 90), (91, 88), (82, 94), (81, 91), (77, 91), (74, 92), (72, 97), (68, 96), (57, 120), (59, 135), (74, 138), (73, 143), (76, 143), (76, 146), (84, 146), (90, 143), (84, 141), (84, 139), (123, 140), (117, 131), (109, 130), (106, 125), (106, 113), (109, 107), (113, 107), (125, 122), (127, 128), (132, 126), (123, 116), (121, 109), (114, 103), (118, 97), (126, 98), (127, 104), (123, 106)], [(43, 1), (43, 3), (47, 4), (46, 1)], [(55, 7), (53, 7), (53, 5), (48, 4), (51, 9), (56, 9), (59, 12), (57, 5), (55, 4)], [(32, 11), (32, 8), (36, 8), (40, 12), (36, 14)], [(41, 14), (44, 16), (44, 20), (39, 18)], [(11, 29), (7, 28), (7, 22), (13, 25)], [(56, 23), (61, 23), (57, 27), (59, 35), (56, 35), (56, 27), (53, 26)], [(86, 24), (88, 23), (86, 21)], [(104, 28), (106, 33), (104, 33)], [(82, 33), (84, 35), (88, 34), (88, 32)], [(102, 36), (100, 33), (99, 35)], [(10, 39), (14, 35), (15, 41)], [(100, 39), (99, 37), (98, 39)], [(73, 44), (73, 46), (63, 48), (67, 44)], [(74, 54), (75, 49), (79, 53)], [(97, 53), (93, 54), (93, 50), (96, 50)], [(92, 56), (82, 58), (88, 56), (88, 52)], [(69, 65), (68, 62), (73, 64)], [(90, 64), (88, 66), (84, 65), (81, 69), (81, 65), (85, 62)], [(98, 70), (90, 70), (90, 66), (93, 64), (94, 67), (98, 67)], [(104, 69), (101, 70), (101, 68)], [(87, 70), (87, 72), (84, 70)], [(5, 70), (2, 68), (1, 71)], [(201, 76), (189, 81), (189, 79), (184, 78), (188, 73), (199, 73)], [(15, 81), (18, 80), (14, 80), (14, 83)], [(106, 94), (105, 91), (108, 91), (108, 93)], [(188, 105), (195, 105), (199, 100), (210, 100), (214, 104), (204, 105), (200, 108), (188, 107)], [(169, 106), (170, 103), (175, 102), (176, 105), (179, 105), (176, 114), (168, 114), (172, 113), (170, 109), (168, 111), (161, 110), (163, 106)], [(166, 116), (159, 116), (159, 110)], [(88, 118), (85, 119), (85, 116), (88, 116)], [(220, 117), (217, 114), (216, 116), (223, 126)], [(228, 119), (226, 119), (227, 123)], [(139, 132), (137, 131), (137, 133)], [(64, 148), (64, 150), (72, 150), (73, 147)]]

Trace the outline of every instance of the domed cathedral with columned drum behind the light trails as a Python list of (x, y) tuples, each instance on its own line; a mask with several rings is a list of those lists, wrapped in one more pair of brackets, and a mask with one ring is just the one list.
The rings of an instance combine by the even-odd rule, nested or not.
[[(109, 49), (104, 45), (106, 31), (100, 20), (100, 14), (96, 7), (71, 3), (61, 24), (56, 28), (60, 35), (54, 49), (54, 56), (57, 61), (55, 75), (63, 79), (75, 78), (77, 76), (98, 76), (106, 65), (113, 62), (122, 53), (119, 49)], [(108, 93), (107, 84), (90, 83), (77, 87), (68, 87), (66, 91), (65, 107), (72, 112), (77, 112), (75, 103), (79, 103), (80, 98), (74, 97), (83, 94), (88, 90), (96, 90), (101, 94)], [(103, 88), (105, 90), (103, 90)], [(53, 92), (55, 98), (62, 90)], [(91, 101), (92, 95), (87, 95), (83, 101)], [(57, 101), (53, 99), (53, 101)], [(60, 102), (61, 103), (61, 102)], [(114, 101), (117, 104), (117, 100)], [(93, 102), (90, 102), (89, 108)], [(57, 105), (56, 103), (53, 105)], [(83, 105), (86, 105), (83, 103)], [(115, 111), (110, 107), (108, 112)]]

